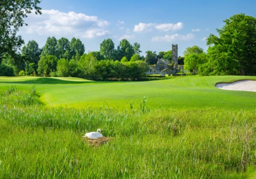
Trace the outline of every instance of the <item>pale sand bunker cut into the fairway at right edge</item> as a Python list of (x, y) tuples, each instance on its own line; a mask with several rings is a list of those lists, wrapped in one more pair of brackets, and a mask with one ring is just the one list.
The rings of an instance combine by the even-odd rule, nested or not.
[(254, 91), (256, 92), (256, 81), (253, 80), (243, 80), (233, 83), (219, 83), (216, 85), (219, 89), (226, 90), (244, 90), (244, 91)]

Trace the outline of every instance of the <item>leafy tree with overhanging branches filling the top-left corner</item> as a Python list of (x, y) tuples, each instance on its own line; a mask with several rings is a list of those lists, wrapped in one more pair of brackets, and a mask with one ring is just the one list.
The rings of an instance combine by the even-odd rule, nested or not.
[(24, 41), (17, 32), (20, 27), (27, 25), (24, 18), (35, 9), (41, 14), (38, 6), (41, 0), (0, 0), (0, 59), (7, 53), (15, 60)]

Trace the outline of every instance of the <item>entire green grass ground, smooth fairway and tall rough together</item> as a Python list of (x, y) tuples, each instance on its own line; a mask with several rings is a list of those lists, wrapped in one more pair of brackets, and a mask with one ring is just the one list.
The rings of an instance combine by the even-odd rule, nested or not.
[(215, 87), (239, 80), (0, 77), (0, 178), (254, 179), (256, 92)]

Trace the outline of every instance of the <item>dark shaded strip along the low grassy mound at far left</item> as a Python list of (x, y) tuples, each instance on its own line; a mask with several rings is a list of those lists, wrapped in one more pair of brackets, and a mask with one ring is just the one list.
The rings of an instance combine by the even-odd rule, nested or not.
[(32, 80), (25, 80), (25, 81), (12, 81), (12, 82), (0, 82), (5, 84), (36, 84), (36, 85), (72, 85), (72, 84), (89, 84), (89, 83), (99, 83), (94, 81), (67, 81), (67, 80), (59, 80), (53, 78), (37, 78)]

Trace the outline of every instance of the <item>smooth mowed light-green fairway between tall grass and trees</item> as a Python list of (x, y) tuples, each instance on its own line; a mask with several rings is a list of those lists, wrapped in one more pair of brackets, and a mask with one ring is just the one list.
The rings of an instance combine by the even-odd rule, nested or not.
[(0, 77), (0, 90), (14, 85), (17, 89), (35, 86), (40, 99), (50, 106), (139, 106), (144, 96), (147, 106), (197, 108), (256, 108), (256, 92), (215, 88), (219, 82), (256, 80), (256, 77), (178, 77), (149, 82), (93, 82), (79, 78)]

